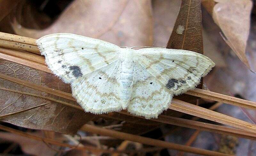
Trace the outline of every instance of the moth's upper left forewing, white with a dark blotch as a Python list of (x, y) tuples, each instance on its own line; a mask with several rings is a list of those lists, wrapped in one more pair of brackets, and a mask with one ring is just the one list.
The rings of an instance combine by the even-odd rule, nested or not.
[(66, 83), (115, 61), (118, 46), (70, 33), (46, 35), (36, 43), (49, 69)]

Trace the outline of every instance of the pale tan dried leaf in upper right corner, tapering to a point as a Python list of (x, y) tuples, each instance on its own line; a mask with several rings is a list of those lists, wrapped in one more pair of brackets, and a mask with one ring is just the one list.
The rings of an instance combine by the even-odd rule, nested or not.
[(214, 0), (212, 18), (225, 35), (223, 38), (238, 58), (251, 70), (245, 55), (250, 31), (251, 0)]

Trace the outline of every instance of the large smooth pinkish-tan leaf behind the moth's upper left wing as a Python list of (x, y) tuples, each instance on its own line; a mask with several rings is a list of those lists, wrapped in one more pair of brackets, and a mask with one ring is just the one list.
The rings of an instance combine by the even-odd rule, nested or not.
[(14, 21), (13, 28), (17, 34), (31, 38), (50, 33), (76, 33), (119, 46), (151, 46), (152, 22), (151, 2), (148, 0), (74, 0), (44, 30), (27, 29), (17, 21)]

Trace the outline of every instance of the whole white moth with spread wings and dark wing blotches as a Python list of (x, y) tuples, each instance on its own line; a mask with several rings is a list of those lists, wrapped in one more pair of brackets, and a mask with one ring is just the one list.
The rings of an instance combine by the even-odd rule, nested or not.
[(46, 35), (36, 43), (50, 70), (71, 84), (78, 104), (94, 114), (127, 109), (157, 118), (174, 95), (195, 88), (215, 65), (193, 51), (134, 50), (70, 33)]

